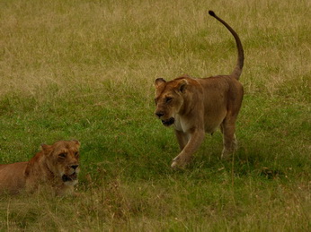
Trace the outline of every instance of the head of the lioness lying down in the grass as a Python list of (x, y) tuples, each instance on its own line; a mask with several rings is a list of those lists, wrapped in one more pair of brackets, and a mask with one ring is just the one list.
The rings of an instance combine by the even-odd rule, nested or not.
[(56, 178), (65, 185), (76, 185), (79, 168), (80, 142), (58, 141), (53, 145), (42, 144), (47, 166)]

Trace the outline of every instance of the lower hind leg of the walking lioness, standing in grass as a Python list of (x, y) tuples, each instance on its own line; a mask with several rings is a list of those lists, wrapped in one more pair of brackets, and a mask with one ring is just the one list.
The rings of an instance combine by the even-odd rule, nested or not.
[(235, 137), (235, 122), (224, 121), (224, 123), (220, 126), (220, 129), (223, 133), (224, 143), (224, 148), (221, 153), (221, 159), (227, 159), (237, 149), (237, 140)]

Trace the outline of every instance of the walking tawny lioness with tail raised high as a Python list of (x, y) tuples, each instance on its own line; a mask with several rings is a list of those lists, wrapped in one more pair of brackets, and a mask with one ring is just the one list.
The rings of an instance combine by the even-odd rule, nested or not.
[(163, 125), (173, 125), (181, 153), (173, 159), (172, 167), (182, 167), (199, 149), (205, 133), (214, 133), (220, 126), (227, 158), (236, 148), (235, 121), (244, 95), (238, 79), (244, 64), (244, 51), (239, 37), (226, 21), (209, 14), (227, 27), (235, 38), (237, 64), (230, 75), (194, 79), (182, 76), (166, 82), (155, 80), (155, 116)]

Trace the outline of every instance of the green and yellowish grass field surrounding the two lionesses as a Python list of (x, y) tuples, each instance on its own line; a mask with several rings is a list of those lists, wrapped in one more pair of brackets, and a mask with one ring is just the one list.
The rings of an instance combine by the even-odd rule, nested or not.
[[(0, 0), (0, 163), (82, 143), (80, 196), (0, 196), (0, 231), (310, 231), (310, 1)], [(239, 150), (170, 168), (154, 81), (231, 73)]]

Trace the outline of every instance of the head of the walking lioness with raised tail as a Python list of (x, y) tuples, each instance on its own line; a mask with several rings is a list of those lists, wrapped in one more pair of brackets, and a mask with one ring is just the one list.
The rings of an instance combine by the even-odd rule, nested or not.
[(165, 126), (173, 125), (176, 114), (183, 106), (183, 97), (188, 82), (184, 78), (177, 78), (166, 82), (162, 78), (155, 80), (155, 116)]

